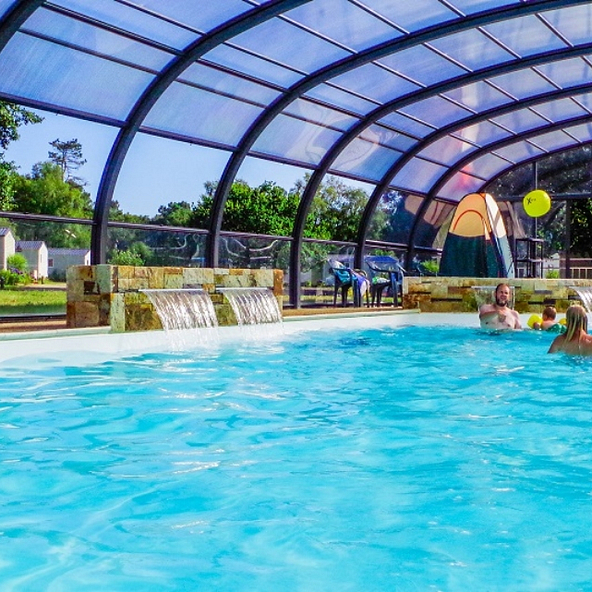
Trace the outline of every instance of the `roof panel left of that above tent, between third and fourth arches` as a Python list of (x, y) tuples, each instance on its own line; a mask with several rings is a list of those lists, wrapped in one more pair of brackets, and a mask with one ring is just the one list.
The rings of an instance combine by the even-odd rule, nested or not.
[(386, 56), (378, 62), (425, 85), (466, 73), (461, 67), (424, 45)]

